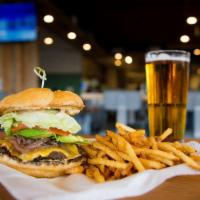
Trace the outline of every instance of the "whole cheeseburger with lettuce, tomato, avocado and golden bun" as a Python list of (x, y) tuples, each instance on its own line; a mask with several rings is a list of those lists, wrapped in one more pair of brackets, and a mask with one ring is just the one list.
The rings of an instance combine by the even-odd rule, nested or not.
[(69, 91), (30, 88), (0, 101), (0, 163), (35, 177), (56, 177), (81, 165), (73, 115), (84, 107)]

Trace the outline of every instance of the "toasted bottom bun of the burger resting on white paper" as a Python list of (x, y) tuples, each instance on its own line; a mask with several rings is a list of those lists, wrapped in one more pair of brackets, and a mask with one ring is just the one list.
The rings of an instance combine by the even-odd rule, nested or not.
[(0, 163), (37, 178), (53, 178), (70, 174), (70, 171), (76, 171), (73, 170), (73, 168), (79, 167), (82, 161), (71, 161), (70, 163), (58, 165), (50, 163), (41, 163), (40, 165), (36, 165), (33, 162), (23, 163), (12, 159), (8, 155), (1, 155)]

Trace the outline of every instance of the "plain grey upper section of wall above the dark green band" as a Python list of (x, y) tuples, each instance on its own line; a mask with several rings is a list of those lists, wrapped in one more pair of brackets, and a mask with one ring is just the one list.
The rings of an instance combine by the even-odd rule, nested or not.
[[(44, 37), (52, 37), (54, 43), (45, 45), (42, 41)], [(79, 50), (68, 43), (68, 39), (48, 32), (45, 29), (40, 30), (40, 65), (48, 73), (81, 73), (82, 55)]]

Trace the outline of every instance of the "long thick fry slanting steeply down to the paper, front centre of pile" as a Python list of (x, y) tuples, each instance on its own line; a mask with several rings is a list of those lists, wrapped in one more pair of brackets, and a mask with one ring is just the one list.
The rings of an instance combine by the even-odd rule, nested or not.
[(120, 135), (114, 134), (113, 132), (107, 132), (107, 135), (110, 136), (112, 139), (117, 141), (118, 148), (120, 151), (126, 153), (131, 158), (132, 163), (134, 164), (135, 168), (142, 172), (145, 170), (144, 166), (136, 156), (132, 146)]

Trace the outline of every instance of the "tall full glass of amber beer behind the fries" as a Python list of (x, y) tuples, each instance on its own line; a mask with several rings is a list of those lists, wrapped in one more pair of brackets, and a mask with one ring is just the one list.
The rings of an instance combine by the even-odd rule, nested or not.
[(178, 50), (151, 51), (145, 55), (149, 131), (173, 133), (168, 141), (182, 140), (186, 126), (190, 53)]

